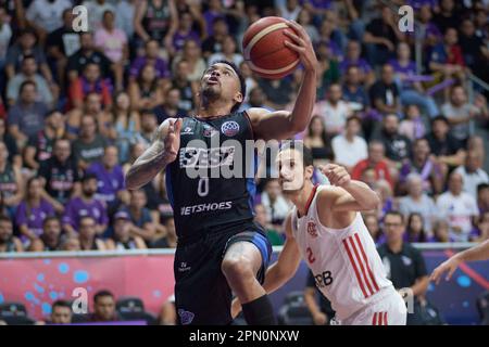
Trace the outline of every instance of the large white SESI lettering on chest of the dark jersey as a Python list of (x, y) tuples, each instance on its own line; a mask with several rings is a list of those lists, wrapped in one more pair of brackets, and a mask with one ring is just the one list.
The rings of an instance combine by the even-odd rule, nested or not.
[(217, 149), (185, 147), (180, 149), (180, 168), (206, 169), (231, 166), (235, 158), (234, 146)]

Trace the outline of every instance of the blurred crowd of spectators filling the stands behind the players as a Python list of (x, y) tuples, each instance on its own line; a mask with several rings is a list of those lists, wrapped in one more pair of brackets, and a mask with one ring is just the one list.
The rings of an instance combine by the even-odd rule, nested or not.
[[(0, 252), (175, 247), (164, 172), (136, 191), (124, 172), (161, 121), (195, 114), (216, 60), (242, 70), (241, 110), (290, 110), (301, 68), (263, 79), (240, 50), (267, 15), (311, 36), (317, 98), (299, 137), (316, 164), (344, 165), (379, 193), (364, 216), (376, 242), (392, 210), (405, 241), (489, 237), (487, 92), (468, 89), (469, 76), (489, 80), (488, 2), (406, 3), (416, 33), (376, 0), (0, 0)], [(78, 4), (87, 33), (74, 29)], [(255, 197), (256, 220), (281, 244), (290, 202), (275, 179)]]

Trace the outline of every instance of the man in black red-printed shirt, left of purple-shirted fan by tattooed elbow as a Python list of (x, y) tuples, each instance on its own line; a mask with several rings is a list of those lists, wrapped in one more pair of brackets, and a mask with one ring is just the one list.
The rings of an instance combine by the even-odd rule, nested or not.
[(68, 140), (57, 139), (52, 154), (49, 159), (41, 162), (37, 176), (46, 191), (42, 197), (60, 214), (72, 193), (79, 192), (79, 176)]

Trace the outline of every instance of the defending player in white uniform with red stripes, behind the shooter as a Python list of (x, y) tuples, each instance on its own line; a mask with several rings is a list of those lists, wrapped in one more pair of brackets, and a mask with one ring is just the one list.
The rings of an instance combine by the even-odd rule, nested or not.
[[(284, 249), (266, 272), (265, 291), (284, 285), (303, 258), (331, 301), (336, 324), (405, 325), (404, 300), (387, 279), (360, 214), (377, 207), (377, 194), (338, 165), (321, 168), (331, 185), (314, 185), (312, 154), (300, 142), (286, 144), (277, 162), (284, 194), (294, 207), (286, 219)], [(235, 300), (233, 314), (237, 311)]]

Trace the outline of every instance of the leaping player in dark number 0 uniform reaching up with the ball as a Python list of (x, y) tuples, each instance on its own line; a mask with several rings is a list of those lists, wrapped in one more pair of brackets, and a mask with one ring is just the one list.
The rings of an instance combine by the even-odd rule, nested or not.
[[(190, 178), (187, 169), (229, 166), (229, 158), (231, 165), (249, 168), (250, 158), (234, 155), (237, 151), (244, 154), (244, 141), (284, 140), (305, 129), (315, 101), (317, 60), (305, 30), (296, 22), (288, 25), (297, 35), (288, 33), (285, 44), (299, 53), (304, 68), (292, 112), (258, 107), (237, 112), (246, 94), (243, 77), (233, 63), (214, 63), (200, 81), (198, 114), (162, 123), (151, 146), (127, 172), (127, 188), (137, 189), (166, 169), (178, 236), (174, 272), (180, 324), (231, 323), (231, 291), (244, 303), (249, 324), (275, 324), (261, 286), (272, 247), (253, 222), (253, 178)], [(218, 147), (211, 146), (215, 137)], [(206, 147), (190, 143), (196, 140)], [(241, 149), (229, 149), (228, 140)]]

